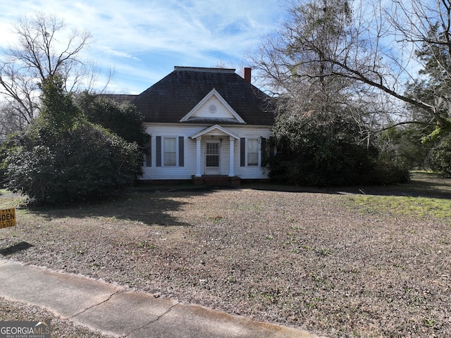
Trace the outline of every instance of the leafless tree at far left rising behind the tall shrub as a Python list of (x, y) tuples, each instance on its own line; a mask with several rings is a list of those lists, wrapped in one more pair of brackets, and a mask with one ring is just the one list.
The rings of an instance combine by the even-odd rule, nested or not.
[(89, 88), (94, 73), (80, 59), (80, 51), (90, 40), (88, 32), (73, 30), (66, 35), (66, 24), (52, 15), (36, 13), (13, 24), (17, 44), (3, 51), (0, 61), (0, 94), (7, 112), (19, 125), (30, 123), (39, 113), (39, 84), (58, 73), (67, 91)]

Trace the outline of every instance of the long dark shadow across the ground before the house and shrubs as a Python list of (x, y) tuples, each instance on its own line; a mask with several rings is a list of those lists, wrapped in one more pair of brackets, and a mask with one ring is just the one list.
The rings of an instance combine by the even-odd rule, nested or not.
[(137, 187), (124, 193), (115, 201), (99, 201), (89, 205), (66, 207), (24, 206), (47, 220), (56, 218), (109, 218), (141, 222), (144, 225), (194, 226), (183, 223), (171, 215), (190, 204), (198, 196), (214, 194), (220, 189), (256, 189), (293, 193), (316, 194), (361, 194), (379, 196), (424, 196), (438, 199), (451, 199), (451, 179), (435, 174), (416, 173), (412, 180), (404, 184), (362, 187), (290, 187), (281, 184), (245, 183), (241, 187), (197, 187), (158, 185)]

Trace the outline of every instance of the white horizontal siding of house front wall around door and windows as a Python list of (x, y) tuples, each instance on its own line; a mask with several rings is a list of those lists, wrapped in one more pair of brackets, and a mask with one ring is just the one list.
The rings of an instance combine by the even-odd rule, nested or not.
[[(212, 98), (213, 99), (213, 98)], [(216, 98), (215, 98), (216, 99)], [(221, 105), (218, 104), (219, 108)], [(206, 103), (208, 110), (208, 102)], [(152, 167), (143, 167), (142, 180), (190, 180), (192, 175), (196, 174), (196, 140), (190, 139), (190, 135), (204, 130), (210, 125), (191, 125), (191, 124), (147, 124), (147, 132), (152, 136)], [(249, 139), (261, 139), (261, 137), (269, 138), (271, 134), (271, 127), (268, 126), (249, 126), (249, 125), (225, 125), (221, 127), (226, 128), (230, 132), (237, 134), (240, 137)], [(213, 135), (213, 137), (212, 137)], [(171, 166), (165, 167), (164, 162), (161, 161), (161, 167), (156, 167), (156, 136), (164, 137), (184, 137), (184, 151), (185, 161), (183, 167)], [(228, 175), (229, 173), (229, 154), (230, 142), (229, 136), (221, 132), (216, 132), (202, 137), (201, 142), (201, 174), (204, 175), (204, 142), (206, 139), (221, 139), (221, 175)], [(163, 142), (162, 142), (163, 143)], [(178, 143), (178, 142), (177, 142)], [(268, 178), (267, 170), (262, 170), (260, 165), (240, 166), (240, 139), (235, 139), (234, 142), (234, 173), (235, 176), (243, 179), (261, 179)], [(260, 164), (260, 158), (259, 158)]]

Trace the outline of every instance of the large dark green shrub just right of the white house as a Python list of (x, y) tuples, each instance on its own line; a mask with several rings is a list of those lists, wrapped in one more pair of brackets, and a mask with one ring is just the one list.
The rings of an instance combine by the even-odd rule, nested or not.
[(402, 172), (395, 180), (409, 177), (407, 169), (380, 161), (378, 149), (360, 142), (359, 132), (352, 118), (338, 114), (279, 115), (273, 130), (278, 154), (269, 176), (310, 186), (393, 183), (393, 176), (384, 176), (385, 168)]

